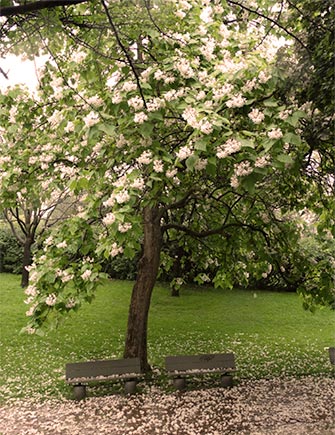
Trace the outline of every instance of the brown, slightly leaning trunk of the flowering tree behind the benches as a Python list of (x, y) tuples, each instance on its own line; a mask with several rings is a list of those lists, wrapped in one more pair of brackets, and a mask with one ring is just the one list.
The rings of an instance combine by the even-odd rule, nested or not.
[(146, 207), (143, 212), (144, 239), (138, 264), (129, 314), (125, 358), (138, 357), (143, 371), (150, 370), (147, 358), (147, 327), (152, 290), (160, 265), (162, 231), (158, 208)]

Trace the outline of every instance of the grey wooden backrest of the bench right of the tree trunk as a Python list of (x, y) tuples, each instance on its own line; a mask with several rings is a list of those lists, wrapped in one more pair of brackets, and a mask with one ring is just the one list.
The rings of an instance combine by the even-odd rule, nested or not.
[(165, 358), (165, 367), (168, 372), (215, 369), (235, 370), (235, 356), (233, 353), (167, 356)]

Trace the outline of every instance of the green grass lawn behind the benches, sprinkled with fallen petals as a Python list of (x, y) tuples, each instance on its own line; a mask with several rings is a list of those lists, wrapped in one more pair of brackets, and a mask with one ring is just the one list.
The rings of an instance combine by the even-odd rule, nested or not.
[[(0, 274), (0, 401), (70, 397), (67, 362), (122, 356), (132, 283), (101, 287), (92, 305), (39, 337), (19, 334), (27, 310), (19, 282)], [(304, 311), (292, 293), (186, 287), (172, 298), (157, 285), (149, 359), (159, 374), (169, 354), (233, 351), (240, 378), (331, 376), (334, 320), (330, 310)]]

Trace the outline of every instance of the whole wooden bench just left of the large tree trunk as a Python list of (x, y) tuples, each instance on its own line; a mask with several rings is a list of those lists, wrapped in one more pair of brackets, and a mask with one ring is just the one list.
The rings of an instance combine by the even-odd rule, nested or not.
[(91, 382), (125, 381), (127, 394), (136, 390), (138, 380), (143, 377), (139, 358), (97, 360), (66, 364), (66, 382), (73, 385), (74, 397), (81, 400), (86, 396), (86, 385)]

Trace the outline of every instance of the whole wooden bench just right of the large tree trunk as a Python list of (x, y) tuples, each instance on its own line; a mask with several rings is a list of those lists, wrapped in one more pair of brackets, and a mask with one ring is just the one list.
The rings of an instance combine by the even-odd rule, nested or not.
[(221, 373), (221, 385), (231, 387), (236, 370), (233, 353), (167, 356), (165, 368), (178, 390), (186, 388), (186, 376)]

